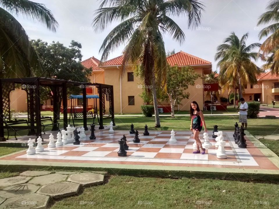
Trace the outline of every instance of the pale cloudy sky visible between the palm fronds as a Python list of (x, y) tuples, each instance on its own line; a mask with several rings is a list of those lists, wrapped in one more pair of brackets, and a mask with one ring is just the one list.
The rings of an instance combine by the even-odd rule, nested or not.
[[(114, 28), (117, 22), (112, 23), (102, 33), (92, 30), (94, 11), (99, 7), (100, 1), (89, 0), (37, 0), (53, 12), (59, 23), (56, 33), (47, 30), (39, 23), (18, 17), (17, 19), (25, 28), (30, 39), (42, 39), (46, 42), (59, 41), (69, 46), (71, 40), (82, 44), (83, 60), (89, 57), (101, 58), (99, 48), (105, 36)], [(172, 17), (180, 26), (186, 36), (186, 41), (181, 46), (167, 34), (164, 35), (165, 49), (176, 52), (182, 50), (189, 54), (201, 57), (212, 62), (212, 70), (216, 70), (214, 55), (219, 44), (235, 32), (238, 37), (249, 32), (247, 45), (255, 42), (262, 43), (258, 39), (261, 27), (257, 27), (258, 17), (265, 12), (269, 1), (267, 0), (203, 0), (205, 12), (201, 19), (201, 25), (194, 30), (187, 28), (185, 17)], [(114, 51), (109, 58), (121, 55), (123, 46)], [(257, 61), (261, 66), (263, 62)], [(218, 70), (218, 69), (217, 69)]]

